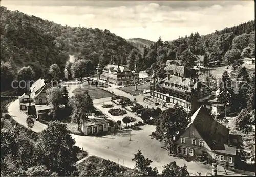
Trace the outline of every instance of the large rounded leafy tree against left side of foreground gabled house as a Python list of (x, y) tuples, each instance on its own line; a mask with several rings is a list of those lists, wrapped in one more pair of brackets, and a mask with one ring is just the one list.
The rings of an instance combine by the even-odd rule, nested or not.
[(175, 138), (187, 126), (187, 120), (188, 115), (183, 107), (176, 104), (174, 108), (162, 111), (155, 119), (156, 131), (151, 136), (164, 141), (166, 148), (172, 151)]

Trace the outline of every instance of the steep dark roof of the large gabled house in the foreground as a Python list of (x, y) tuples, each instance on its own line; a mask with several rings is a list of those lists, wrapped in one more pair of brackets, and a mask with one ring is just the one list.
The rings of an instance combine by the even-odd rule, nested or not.
[[(198, 110), (191, 116), (191, 122), (188, 124), (187, 128), (193, 124), (199, 134), (202, 136), (204, 141), (212, 149), (213, 143), (215, 141), (215, 149), (222, 150), (224, 144), (227, 144), (229, 137), (229, 129), (224, 125), (215, 121), (209, 111), (201, 106)], [(187, 129), (186, 128), (186, 129)]]

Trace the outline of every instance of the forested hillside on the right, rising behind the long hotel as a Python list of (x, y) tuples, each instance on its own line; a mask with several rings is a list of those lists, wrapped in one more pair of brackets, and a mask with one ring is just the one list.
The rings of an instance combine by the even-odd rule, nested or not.
[(194, 55), (205, 55), (205, 63), (208, 65), (230, 64), (243, 57), (255, 57), (254, 22), (249, 21), (204, 36), (195, 32), (173, 41), (164, 42), (160, 37), (157, 42), (144, 48), (144, 69), (151, 67), (150, 71), (160, 72), (160, 66), (166, 60), (181, 60), (187, 67), (193, 66)]

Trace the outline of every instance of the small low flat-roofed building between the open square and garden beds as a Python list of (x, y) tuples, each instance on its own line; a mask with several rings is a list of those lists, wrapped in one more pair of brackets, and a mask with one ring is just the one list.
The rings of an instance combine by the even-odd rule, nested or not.
[(109, 121), (104, 118), (89, 118), (84, 122), (84, 135), (96, 135), (109, 131)]

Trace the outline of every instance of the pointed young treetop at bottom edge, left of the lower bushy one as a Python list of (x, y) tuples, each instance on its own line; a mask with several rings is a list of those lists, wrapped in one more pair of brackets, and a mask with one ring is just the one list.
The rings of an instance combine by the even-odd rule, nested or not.
[(150, 164), (152, 160), (145, 158), (141, 151), (138, 150), (137, 154), (134, 154), (132, 161), (135, 161), (135, 172), (140, 176), (156, 176), (158, 174), (157, 168), (152, 168)]

